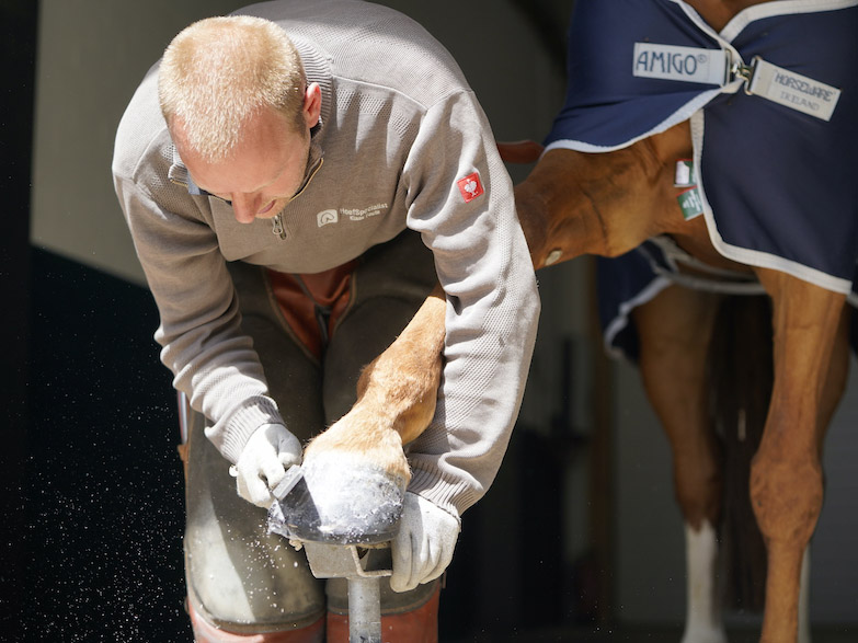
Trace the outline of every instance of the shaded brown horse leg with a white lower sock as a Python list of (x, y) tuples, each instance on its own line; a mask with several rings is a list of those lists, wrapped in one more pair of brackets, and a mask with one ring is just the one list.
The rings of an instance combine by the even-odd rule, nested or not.
[(706, 360), (719, 298), (671, 286), (634, 310), (640, 371), (673, 452), (676, 498), (685, 520), (687, 605), (683, 643), (725, 643), (717, 583), (716, 528), (721, 461), (708, 415)]

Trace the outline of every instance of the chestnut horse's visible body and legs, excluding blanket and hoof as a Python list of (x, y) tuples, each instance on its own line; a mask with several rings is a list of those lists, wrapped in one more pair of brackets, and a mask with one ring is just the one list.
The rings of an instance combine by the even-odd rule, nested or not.
[[(579, 0), (576, 9), (585, 1), (591, 5), (604, 2)], [(648, 2), (655, 0), (637, 4)], [(791, 0), (661, 0), (663, 4), (671, 2), (689, 15), (694, 13), (714, 34), (752, 5), (797, 5)], [(836, 3), (822, 1), (820, 10)], [(610, 10), (622, 20), (618, 5)], [(748, 69), (741, 65), (733, 71), (741, 76)], [(700, 108), (702, 103), (697, 106)], [(677, 202), (675, 169), (677, 160), (696, 154), (691, 115), (604, 151), (549, 147), (530, 175), (516, 186), (516, 206), (537, 269), (584, 254), (617, 257), (647, 240), (668, 237), (695, 259), (683, 268), (688, 274), (697, 276), (706, 265), (707, 269), (753, 275), (762, 285), (771, 303), (774, 381), (750, 471), (750, 497), (767, 555), (760, 641), (794, 642), (799, 636), (802, 563), (823, 503), (822, 443), (848, 371), (846, 291), (840, 287), (843, 280), (830, 287), (830, 282), (820, 285), (801, 272), (797, 275), (753, 256), (747, 262), (728, 259), (713, 244), (718, 234), (708, 216), (686, 219)], [(855, 168), (855, 156), (844, 162)], [(855, 205), (850, 207), (855, 214)], [(689, 555), (686, 643), (725, 641), (712, 581), (724, 474), (707, 412), (711, 397), (708, 345), (723, 297), (677, 283), (632, 313), (644, 388), (674, 453), (675, 490), (688, 548), (702, 552)], [(359, 439), (365, 447), (358, 448), (368, 449), (381, 440), (389, 445), (390, 466), (404, 467), (399, 446), (419, 434), (432, 416), (438, 384), (443, 297), (436, 294), (426, 306), (424, 315), (403, 332), (389, 353), (367, 368), (355, 409), (310, 445), (308, 458), (321, 446), (354, 448), (346, 445), (363, 433)], [(409, 386), (389, 387), (403, 375), (409, 376)], [(373, 420), (382, 407), (387, 409), (386, 420)], [(370, 418), (373, 430), (363, 432), (358, 426), (363, 416)], [(802, 630), (804, 639), (806, 623)]]

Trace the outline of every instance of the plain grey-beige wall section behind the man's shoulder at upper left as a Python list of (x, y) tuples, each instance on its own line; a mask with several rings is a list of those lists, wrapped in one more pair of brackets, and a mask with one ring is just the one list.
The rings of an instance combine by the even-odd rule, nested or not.
[(42, 0), (31, 238), (142, 283), (111, 177), (134, 90), (186, 24), (233, 0)]

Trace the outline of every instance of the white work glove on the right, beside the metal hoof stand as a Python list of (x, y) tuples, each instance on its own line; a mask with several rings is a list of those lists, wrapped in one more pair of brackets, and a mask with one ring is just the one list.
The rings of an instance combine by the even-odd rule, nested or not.
[(399, 533), (390, 546), (390, 588), (408, 592), (441, 576), (453, 560), (458, 537), (459, 521), (455, 517), (424, 497), (405, 492)]

